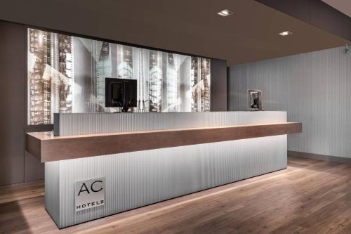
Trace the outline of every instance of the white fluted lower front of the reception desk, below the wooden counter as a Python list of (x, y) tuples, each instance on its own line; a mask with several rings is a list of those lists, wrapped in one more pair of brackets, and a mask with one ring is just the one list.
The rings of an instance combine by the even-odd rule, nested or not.
[[(286, 135), (49, 162), (60, 176), (60, 228), (284, 169)], [(59, 169), (58, 169), (59, 168)], [(48, 168), (46, 168), (48, 169)], [(74, 209), (74, 182), (106, 178), (106, 203)], [(58, 185), (46, 178), (46, 193)], [(51, 209), (57, 207), (51, 205)], [(49, 211), (51, 212), (51, 211)], [(53, 212), (53, 211), (52, 211)], [(55, 217), (53, 217), (55, 219)]]

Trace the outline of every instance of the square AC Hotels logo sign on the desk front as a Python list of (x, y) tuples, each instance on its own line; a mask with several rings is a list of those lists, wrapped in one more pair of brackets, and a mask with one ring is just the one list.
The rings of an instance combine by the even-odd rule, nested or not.
[(105, 204), (105, 177), (75, 183), (76, 212)]

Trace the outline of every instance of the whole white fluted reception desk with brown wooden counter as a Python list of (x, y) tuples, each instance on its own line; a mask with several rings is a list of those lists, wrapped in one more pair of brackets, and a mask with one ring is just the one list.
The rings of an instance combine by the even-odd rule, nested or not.
[(64, 228), (285, 169), (286, 134), (300, 131), (286, 112), (58, 114), (26, 150)]

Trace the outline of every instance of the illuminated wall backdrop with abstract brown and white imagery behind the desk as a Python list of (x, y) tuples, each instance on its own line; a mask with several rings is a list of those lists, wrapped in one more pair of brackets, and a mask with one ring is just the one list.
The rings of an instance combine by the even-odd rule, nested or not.
[(210, 111), (211, 60), (28, 29), (28, 124), (54, 112), (114, 112), (105, 78), (138, 80), (134, 112)]

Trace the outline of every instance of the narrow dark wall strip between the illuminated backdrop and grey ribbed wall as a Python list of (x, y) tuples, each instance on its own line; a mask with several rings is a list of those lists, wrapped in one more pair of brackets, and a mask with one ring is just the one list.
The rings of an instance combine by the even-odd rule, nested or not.
[(227, 61), (211, 60), (211, 111), (227, 110)]

